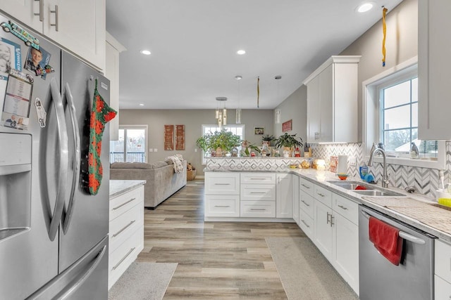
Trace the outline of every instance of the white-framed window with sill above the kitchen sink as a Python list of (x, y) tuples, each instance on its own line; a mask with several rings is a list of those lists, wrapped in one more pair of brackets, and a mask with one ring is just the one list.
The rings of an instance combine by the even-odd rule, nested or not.
[[(417, 58), (364, 81), (363, 87), (364, 154), (373, 143), (383, 143), (391, 164), (443, 169), (445, 143), (418, 139)], [(410, 157), (412, 143), (419, 159)]]

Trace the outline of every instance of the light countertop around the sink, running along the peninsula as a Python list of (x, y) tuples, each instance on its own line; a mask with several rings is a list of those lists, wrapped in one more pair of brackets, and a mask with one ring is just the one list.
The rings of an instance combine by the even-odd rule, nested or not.
[[(211, 170), (210, 170), (211, 171)], [(247, 170), (213, 170), (216, 171), (240, 171), (247, 172)], [(252, 170), (256, 172), (264, 172), (263, 170)], [(405, 195), (406, 197), (369, 197), (358, 193), (353, 190), (347, 190), (341, 188), (338, 185), (334, 185), (329, 181), (340, 181), (335, 173), (330, 171), (318, 171), (316, 169), (290, 169), (286, 167), (284, 170), (268, 170), (271, 172), (288, 172), (296, 174), (301, 178), (305, 178), (317, 185), (323, 186), (332, 190), (338, 195), (347, 197), (348, 199), (357, 202), (358, 204), (364, 204), (367, 207), (371, 207), (386, 214), (393, 219), (407, 223), (414, 228), (418, 228), (426, 233), (434, 235), (435, 237), (451, 243), (451, 210), (435, 207), (431, 204), (437, 204), (435, 199), (427, 197), (419, 193), (409, 194), (404, 190), (398, 188), (382, 188), (380, 184), (376, 184), (375, 187), (383, 190), (391, 190), (396, 193)], [(209, 172), (209, 171), (206, 171)], [(365, 183), (361, 178), (348, 177), (346, 181), (358, 181)], [(342, 181), (342, 182), (346, 182)], [(369, 183), (365, 183), (368, 185)]]

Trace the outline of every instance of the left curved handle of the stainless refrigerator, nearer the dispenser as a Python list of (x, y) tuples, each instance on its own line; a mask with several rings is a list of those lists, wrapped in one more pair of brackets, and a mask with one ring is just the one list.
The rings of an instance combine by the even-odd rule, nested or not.
[(58, 226), (61, 220), (61, 214), (64, 207), (64, 195), (66, 195), (66, 185), (68, 181), (68, 133), (66, 127), (66, 119), (64, 117), (64, 105), (59, 93), (58, 84), (54, 78), (50, 81), (50, 92), (52, 102), (54, 103), (56, 112), (56, 124), (58, 129), (58, 143), (59, 143), (59, 165), (58, 165), (58, 183), (56, 192), (56, 201), (54, 207), (54, 214), (51, 216), (49, 237), (54, 240), (58, 233)]

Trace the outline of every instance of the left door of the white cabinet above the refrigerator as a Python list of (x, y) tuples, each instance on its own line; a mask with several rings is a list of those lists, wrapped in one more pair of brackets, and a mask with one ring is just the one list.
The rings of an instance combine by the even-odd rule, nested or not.
[[(0, 8), (20, 20), (21, 23), (32, 27), (37, 32), (42, 33), (42, 19), (44, 18), (44, 7), (39, 7), (41, 1), (32, 0), (0, 0)], [(36, 15), (35, 15), (36, 14)], [(42, 15), (39, 20), (39, 14)]]

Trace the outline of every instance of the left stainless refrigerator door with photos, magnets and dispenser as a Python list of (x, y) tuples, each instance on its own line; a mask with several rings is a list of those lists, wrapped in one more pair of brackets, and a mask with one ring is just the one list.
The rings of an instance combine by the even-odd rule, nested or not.
[[(8, 22), (8, 19), (0, 15), (0, 22)], [(37, 111), (33, 102), (36, 98), (41, 99), (42, 105), (48, 112), (47, 119), (52, 121), (55, 119), (49, 83), (52, 78), (56, 79), (58, 84), (60, 82), (61, 73), (59, 65), (61, 61), (61, 50), (54, 46), (54, 44), (39, 37), (39, 34), (33, 33), (33, 35), (39, 38), (39, 46), (51, 55), (49, 65), (55, 69), (55, 72), (47, 74), (45, 79), (36, 76), (35, 72), (25, 70), (24, 65), (27, 59), (27, 53), (30, 51), (29, 47), (25, 46), (24, 42), (13, 34), (0, 30), (0, 38), (4, 44), (8, 44), (5, 41), (8, 40), (18, 45), (18, 48), (13, 51), (13, 55), (16, 53), (13, 62), (18, 63), (20, 59), (21, 63), (19, 66), (22, 69), (21, 72), (29, 74), (34, 79), (32, 97), (30, 99), (32, 102), (30, 103), (30, 119), (27, 130), (0, 126), (0, 132), (23, 134), (31, 136), (32, 140), (31, 185), (23, 186), (22, 189), (18, 190), (17, 194), (19, 195), (20, 193), (24, 193), (25, 190), (28, 190), (27, 193), (30, 195), (26, 203), (31, 211), (30, 229), (0, 240), (1, 299), (25, 299), (58, 274), (58, 239), (53, 242), (49, 239), (50, 216), (54, 212), (53, 209), (56, 200), (55, 178), (58, 177), (58, 166), (56, 165), (58, 161), (58, 155), (56, 155), (58, 145), (55, 145), (54, 150), (49, 153), (42, 153), (40, 148), (45, 143), (43, 138), (44, 131), (49, 130), (56, 133), (56, 128), (53, 127), (55, 122), (50, 122), (45, 128), (39, 126)], [(8, 45), (11, 48), (11, 44)], [(16, 64), (14, 66), (17, 67)], [(2, 83), (6, 84), (6, 80)], [(0, 103), (3, 104), (5, 95), (1, 93), (0, 96)], [(3, 108), (3, 105), (0, 105), (0, 108)], [(4, 147), (4, 145), (2, 144), (1, 147)], [(11, 151), (14, 150), (11, 149)], [(47, 162), (42, 160), (44, 155), (50, 157)], [(13, 179), (8, 176), (0, 176), (0, 181), (6, 183), (6, 185), (15, 184), (14, 182), (9, 182), (11, 180)], [(25, 198), (15, 197), (6, 201), (23, 202)], [(8, 217), (10, 216), (0, 216), (0, 218)]]

